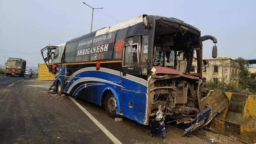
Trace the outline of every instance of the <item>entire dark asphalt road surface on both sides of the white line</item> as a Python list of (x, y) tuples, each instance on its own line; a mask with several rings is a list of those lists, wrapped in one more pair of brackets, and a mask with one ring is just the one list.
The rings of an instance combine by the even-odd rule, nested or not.
[[(47, 93), (51, 84), (35, 77), (0, 77), (0, 143), (113, 143), (68, 96)], [(122, 143), (217, 143), (210, 139), (226, 137), (204, 130), (182, 137), (184, 128), (167, 124), (162, 140), (150, 137), (148, 125), (126, 118), (116, 122), (103, 106), (75, 100)]]

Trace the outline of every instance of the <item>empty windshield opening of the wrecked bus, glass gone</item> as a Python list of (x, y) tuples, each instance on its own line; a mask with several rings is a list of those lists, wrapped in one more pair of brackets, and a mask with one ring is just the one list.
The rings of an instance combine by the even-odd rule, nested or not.
[(188, 53), (186, 60), (193, 57), (190, 52), (198, 47), (198, 34), (184, 26), (161, 20), (156, 21), (155, 29), (153, 66), (176, 68), (178, 52)]

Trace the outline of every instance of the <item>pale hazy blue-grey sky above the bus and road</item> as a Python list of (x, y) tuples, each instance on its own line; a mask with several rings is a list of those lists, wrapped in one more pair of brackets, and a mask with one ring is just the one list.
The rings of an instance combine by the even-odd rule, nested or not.
[[(256, 59), (254, 0), (85, 2), (104, 7), (94, 11), (93, 31), (142, 14), (175, 17), (201, 30), (201, 36), (215, 36), (218, 56)], [(91, 17), (92, 9), (81, 0), (0, 0), (0, 64), (9, 56), (37, 67), (42, 48), (89, 33)], [(203, 57), (211, 57), (212, 46), (203, 42)]]

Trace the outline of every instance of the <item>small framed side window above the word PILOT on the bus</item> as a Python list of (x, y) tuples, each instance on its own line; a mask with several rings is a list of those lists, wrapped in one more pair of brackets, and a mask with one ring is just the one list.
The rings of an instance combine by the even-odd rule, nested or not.
[(138, 45), (128, 45), (124, 49), (124, 65), (138, 65)]

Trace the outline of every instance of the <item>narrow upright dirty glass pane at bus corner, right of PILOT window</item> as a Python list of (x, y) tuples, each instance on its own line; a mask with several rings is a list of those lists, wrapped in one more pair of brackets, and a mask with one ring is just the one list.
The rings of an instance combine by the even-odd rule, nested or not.
[(148, 35), (142, 36), (142, 74), (147, 75), (148, 61)]

